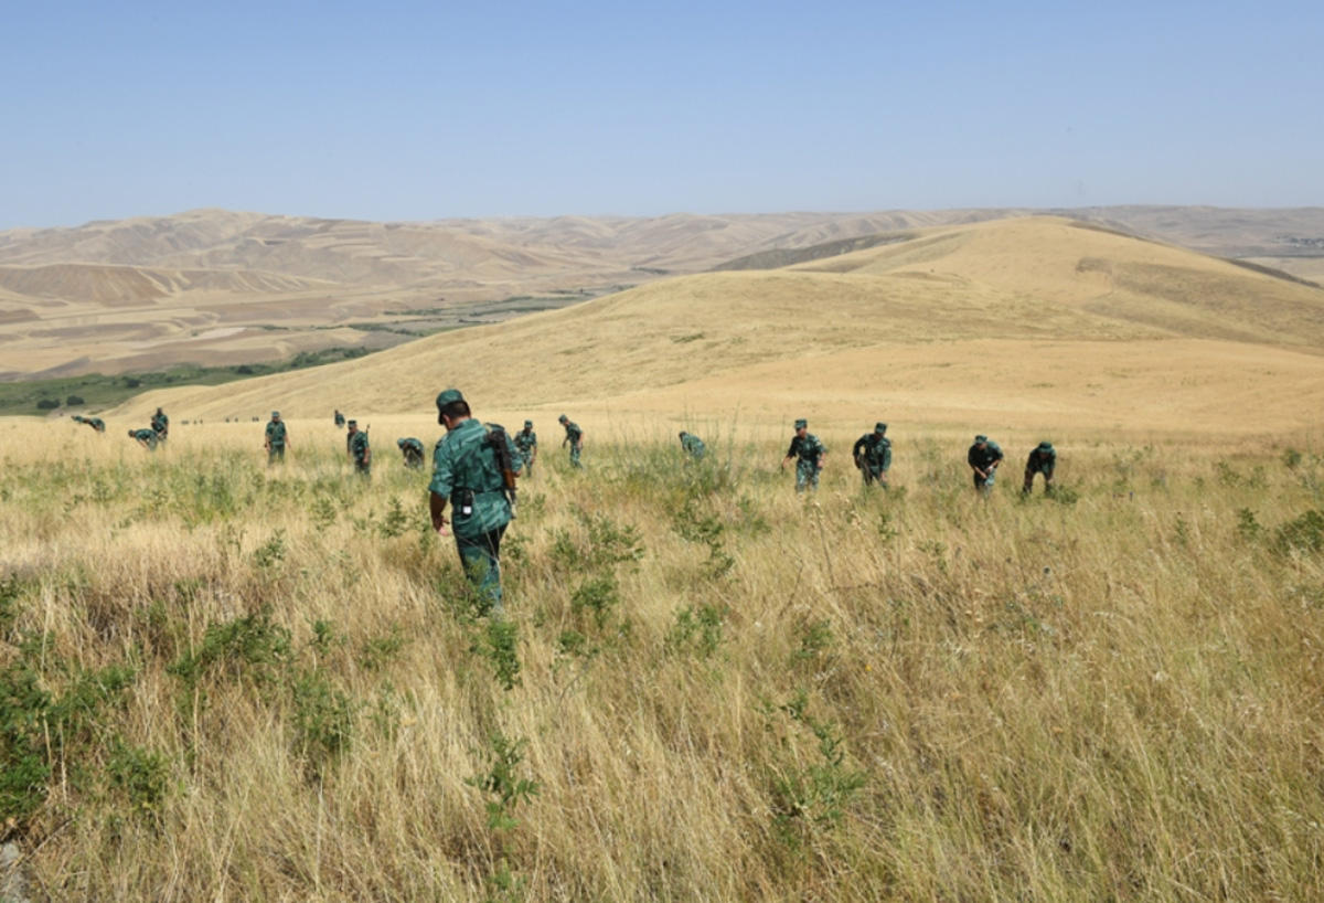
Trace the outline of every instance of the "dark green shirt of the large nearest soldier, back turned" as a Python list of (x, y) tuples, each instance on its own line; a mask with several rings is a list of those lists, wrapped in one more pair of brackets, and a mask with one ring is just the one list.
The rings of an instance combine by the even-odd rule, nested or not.
[[(450, 502), (450, 520), (457, 536), (481, 536), (510, 523), (510, 500), (502, 491), (504, 481), (496, 463), (496, 449), (483, 441), (491, 426), (471, 417), (462, 420), (437, 441), (432, 453), (432, 483), (428, 489)], [(506, 436), (506, 445), (519, 467), (510, 436)], [(463, 514), (466, 500), (473, 508), (467, 515)]]

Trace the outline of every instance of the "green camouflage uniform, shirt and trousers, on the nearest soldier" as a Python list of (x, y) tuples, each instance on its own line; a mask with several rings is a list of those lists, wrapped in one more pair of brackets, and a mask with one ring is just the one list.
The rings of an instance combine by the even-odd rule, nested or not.
[[(458, 393), (457, 393), (458, 395)], [(473, 417), (437, 441), (432, 453), (432, 483), (428, 489), (450, 503), (450, 523), (465, 573), (496, 614), (502, 612), (500, 538), (510, 523), (510, 499), (496, 462), (496, 450), (486, 442), (489, 432), (502, 430)], [(519, 471), (522, 458), (510, 436), (506, 446)]]

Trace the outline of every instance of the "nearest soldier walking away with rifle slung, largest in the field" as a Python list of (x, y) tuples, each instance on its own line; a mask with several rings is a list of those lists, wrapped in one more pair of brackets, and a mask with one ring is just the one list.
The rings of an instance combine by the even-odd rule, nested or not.
[(449, 502), (465, 575), (493, 616), (500, 617), (500, 538), (511, 518), (507, 490), (514, 490), (522, 458), (506, 430), (473, 418), (459, 389), (437, 396), (437, 422), (446, 428), (446, 434), (432, 453), (428, 486), (432, 526), (446, 535), (444, 512)]

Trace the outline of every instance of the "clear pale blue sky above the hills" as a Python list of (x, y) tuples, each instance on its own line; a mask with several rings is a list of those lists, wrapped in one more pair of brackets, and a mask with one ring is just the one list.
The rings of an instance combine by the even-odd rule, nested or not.
[(1324, 205), (1324, 4), (7, 3), (0, 229)]

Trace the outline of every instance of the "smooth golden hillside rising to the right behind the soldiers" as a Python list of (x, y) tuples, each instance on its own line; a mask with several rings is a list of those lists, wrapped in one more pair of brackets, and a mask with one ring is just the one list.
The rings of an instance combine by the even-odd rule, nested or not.
[(826, 265), (666, 279), (367, 360), (152, 393), (126, 413), (426, 416), (458, 385), (483, 410), (565, 406), (585, 426), (739, 409), (1279, 430), (1324, 401), (1321, 348), (1319, 289), (1034, 217)]

